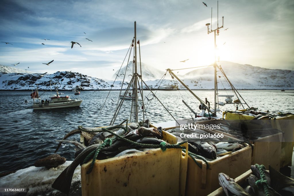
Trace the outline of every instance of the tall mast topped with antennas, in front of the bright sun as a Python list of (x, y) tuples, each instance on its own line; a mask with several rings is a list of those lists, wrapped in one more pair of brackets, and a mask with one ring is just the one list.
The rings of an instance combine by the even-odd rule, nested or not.
[[(212, 8), (211, 8), (211, 18), (212, 18)], [(212, 19), (211, 19), (212, 21)], [(216, 67), (217, 67), (217, 64), (216, 64), (216, 36), (219, 35), (219, 30), (218, 29), (221, 29), (223, 28), (223, 25), (221, 27), (218, 27), (218, 21), (217, 21), (217, 28), (212, 30), (212, 24), (211, 24), (211, 31), (209, 31), (209, 26), (210, 24), (207, 23), (206, 26), (207, 26), (207, 34), (210, 34), (212, 32), (214, 32), (214, 63), (213, 63), (213, 67), (214, 67), (214, 112), (213, 112), (213, 116), (216, 116), (216, 89), (217, 89), (217, 77), (216, 77)]]

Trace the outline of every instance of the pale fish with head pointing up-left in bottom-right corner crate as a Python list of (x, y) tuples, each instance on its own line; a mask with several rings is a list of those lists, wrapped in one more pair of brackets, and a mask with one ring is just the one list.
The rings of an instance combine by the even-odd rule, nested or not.
[(240, 185), (235, 182), (233, 178), (230, 178), (224, 173), (218, 174), (218, 182), (227, 196), (229, 196), (229, 192), (236, 196), (250, 196)]

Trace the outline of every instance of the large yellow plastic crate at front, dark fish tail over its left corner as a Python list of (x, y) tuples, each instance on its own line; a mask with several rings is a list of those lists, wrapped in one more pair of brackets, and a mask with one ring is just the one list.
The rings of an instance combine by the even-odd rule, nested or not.
[[(174, 135), (163, 139), (176, 144)], [(188, 143), (183, 144), (188, 149)], [(135, 154), (91, 161), (81, 166), (82, 195), (185, 195), (188, 157), (181, 149), (160, 148)]]

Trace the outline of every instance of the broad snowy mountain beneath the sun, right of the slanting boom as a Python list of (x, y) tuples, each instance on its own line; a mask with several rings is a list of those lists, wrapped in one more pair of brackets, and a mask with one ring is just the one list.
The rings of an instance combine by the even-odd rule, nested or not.
[[(294, 71), (266, 69), (248, 64), (220, 61), (226, 76), (237, 89), (294, 89)], [(192, 89), (214, 88), (213, 66), (196, 69), (183, 76), (185, 84)], [(218, 89), (230, 88), (223, 74), (217, 72)]]

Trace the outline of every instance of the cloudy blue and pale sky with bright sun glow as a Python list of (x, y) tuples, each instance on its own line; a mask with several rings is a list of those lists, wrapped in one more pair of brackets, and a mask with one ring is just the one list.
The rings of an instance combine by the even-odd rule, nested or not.
[[(143, 63), (162, 71), (209, 65), (214, 40), (205, 24), (211, 23), (212, 8), (212, 29), (217, 27), (217, 1), (204, 2), (207, 7), (202, 0), (1, 0), (0, 41), (13, 45), (0, 42), (0, 64), (110, 79), (127, 54), (136, 21)], [(293, 0), (218, 4), (219, 26), (224, 16), (217, 36), (220, 60), (293, 69)], [(82, 47), (71, 49), (71, 41)]]

